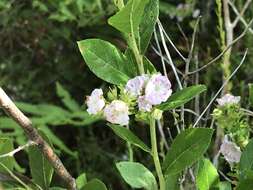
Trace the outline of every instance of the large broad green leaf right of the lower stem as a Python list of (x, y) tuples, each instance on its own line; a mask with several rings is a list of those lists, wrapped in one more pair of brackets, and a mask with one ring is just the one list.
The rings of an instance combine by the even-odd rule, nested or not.
[(212, 134), (213, 130), (207, 128), (190, 128), (181, 132), (165, 157), (165, 174), (177, 174), (200, 159), (211, 142)]

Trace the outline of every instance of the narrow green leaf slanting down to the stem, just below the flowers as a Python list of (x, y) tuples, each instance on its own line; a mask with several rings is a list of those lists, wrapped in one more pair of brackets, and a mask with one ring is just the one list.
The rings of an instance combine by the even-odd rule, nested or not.
[(116, 135), (125, 141), (130, 142), (148, 153), (151, 152), (150, 148), (126, 127), (122, 127), (120, 125), (109, 125), (109, 127)]

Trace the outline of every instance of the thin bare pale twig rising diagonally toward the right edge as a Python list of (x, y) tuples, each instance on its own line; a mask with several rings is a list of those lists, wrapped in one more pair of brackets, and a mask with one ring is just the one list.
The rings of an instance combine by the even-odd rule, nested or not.
[(222, 84), (222, 86), (220, 87), (220, 89), (218, 90), (218, 92), (214, 95), (214, 97), (211, 99), (211, 101), (209, 102), (209, 104), (207, 105), (207, 107), (203, 110), (203, 112), (201, 113), (201, 115), (198, 117), (197, 121), (194, 123), (193, 128), (195, 128), (197, 126), (197, 124), (199, 123), (199, 121), (201, 120), (201, 118), (204, 116), (204, 114), (206, 113), (206, 111), (209, 109), (209, 107), (212, 105), (212, 103), (215, 101), (215, 99), (217, 98), (217, 96), (220, 94), (220, 92), (223, 90), (224, 86), (230, 81), (230, 79), (236, 74), (236, 72), (239, 70), (239, 68), (242, 66), (242, 64), (244, 63), (244, 60), (246, 58), (246, 55), (248, 53), (248, 50), (245, 51), (244, 56), (240, 62), (240, 64), (236, 67), (236, 69), (233, 71), (233, 73), (227, 78), (226, 81), (224, 81), (224, 83)]

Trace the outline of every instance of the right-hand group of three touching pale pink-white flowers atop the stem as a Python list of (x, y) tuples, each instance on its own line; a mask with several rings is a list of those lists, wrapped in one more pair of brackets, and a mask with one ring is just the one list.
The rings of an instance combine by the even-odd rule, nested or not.
[(137, 76), (129, 80), (125, 92), (136, 97), (140, 111), (150, 112), (152, 106), (165, 102), (172, 94), (169, 79), (160, 73), (151, 77)]

